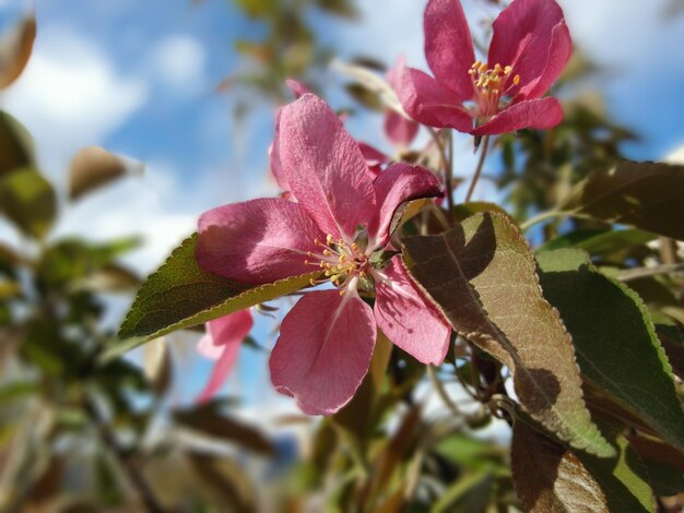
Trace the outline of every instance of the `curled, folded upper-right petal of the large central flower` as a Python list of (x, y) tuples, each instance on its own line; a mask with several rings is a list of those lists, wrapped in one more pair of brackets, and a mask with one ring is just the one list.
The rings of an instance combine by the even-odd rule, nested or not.
[(376, 236), (375, 244), (384, 247), (391, 237), (391, 223), (399, 206), (418, 198), (441, 195), (439, 181), (428, 169), (409, 164), (393, 164), (373, 182), (380, 205), (377, 217), (368, 228)]

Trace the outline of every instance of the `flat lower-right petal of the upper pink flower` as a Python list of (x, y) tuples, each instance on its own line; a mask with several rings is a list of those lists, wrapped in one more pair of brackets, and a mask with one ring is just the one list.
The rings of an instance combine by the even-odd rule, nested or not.
[(508, 107), (471, 133), (473, 135), (493, 135), (514, 132), (523, 128), (543, 130), (555, 127), (561, 121), (563, 121), (563, 108), (556, 98), (530, 99)]

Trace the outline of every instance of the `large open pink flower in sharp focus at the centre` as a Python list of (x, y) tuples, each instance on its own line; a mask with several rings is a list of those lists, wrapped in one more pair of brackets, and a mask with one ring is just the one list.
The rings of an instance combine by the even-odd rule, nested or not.
[[(200, 217), (197, 258), (209, 272), (266, 284), (320, 270), (334, 288), (310, 291), (283, 320), (271, 380), (307, 414), (330, 415), (368, 370), (377, 329), (425, 363), (444, 360), (449, 327), (389, 248), (392, 218), (405, 201), (440, 194), (422, 167), (396, 164), (375, 180), (342, 122), (306, 94), (280, 112), (281, 171), (297, 202), (260, 199)], [(375, 293), (375, 308), (359, 294)]]

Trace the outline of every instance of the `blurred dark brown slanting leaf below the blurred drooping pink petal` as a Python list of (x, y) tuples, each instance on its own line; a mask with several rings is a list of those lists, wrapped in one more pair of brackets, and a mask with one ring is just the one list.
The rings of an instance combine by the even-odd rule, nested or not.
[(190, 409), (174, 413), (180, 425), (221, 440), (229, 440), (239, 446), (260, 454), (272, 455), (273, 445), (257, 428), (223, 415), (219, 403), (209, 402)]

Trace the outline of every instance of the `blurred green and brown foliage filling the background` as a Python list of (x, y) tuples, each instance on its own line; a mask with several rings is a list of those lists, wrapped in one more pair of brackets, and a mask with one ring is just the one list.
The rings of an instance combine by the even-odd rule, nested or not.
[[(246, 65), (217, 84), (219, 91), (244, 98), (237, 104), (239, 116), (248, 114), (255, 99), (286, 102), (286, 79), (321, 90), (320, 73), (335, 49), (317, 41), (308, 22), (311, 11), (351, 22), (358, 15), (351, 0), (234, 1), (263, 27), (258, 39), (234, 41)], [(194, 3), (202, 8), (202, 0)], [(673, 2), (672, 10), (679, 9), (681, 3)], [(32, 17), (3, 34), (0, 87), (19, 76), (34, 37)], [(364, 64), (380, 80), (381, 64), (363, 58), (356, 62)], [(499, 162), (493, 166), (498, 172), (488, 178), (517, 219), (553, 210), (591, 170), (620, 162), (623, 143), (638, 141), (638, 133), (608, 117), (602, 98), (576, 94), (577, 84), (598, 72), (576, 53), (556, 86), (564, 98), (563, 123), (543, 133), (524, 130), (498, 139)], [(349, 107), (384, 110), (381, 86), (359, 76), (365, 75), (349, 79)], [(0, 112), (0, 215), (21, 235), (19, 246), (0, 241), (0, 511), (521, 508), (508, 445), (473, 434), (494, 417), (482, 397), (503, 386), (504, 370), (460, 339), (436, 377), (380, 339), (369, 374), (343, 410), (327, 419), (282, 419), (283, 426), (297, 426), (304, 433), (294, 442), (274, 434), (279, 426), (267, 434), (239, 420), (234, 415), (239, 398), (174, 406), (169, 384), (182, 377), (163, 341), (151, 343), (142, 361), (105, 353), (115, 339), (102, 322), (106, 297), (132, 297), (141, 279), (120, 259), (144, 241), (130, 237), (95, 243), (51, 236), (57, 217), (71, 203), (142, 172), (141, 165), (104, 148), (84, 148), (64, 170), (66, 187), (56, 188), (36, 167), (32, 146), (21, 120)], [(434, 143), (402, 156), (439, 166)], [(60, 195), (60, 190), (67, 193)], [(669, 239), (610, 227), (595, 220), (552, 220), (533, 239), (546, 249), (581, 247), (598, 266), (615, 273), (653, 261), (681, 262)], [(630, 286), (661, 321), (659, 333), (680, 377), (681, 394), (684, 279), (681, 274), (644, 276)], [(431, 378), (460, 383), (464, 392), (459, 401), (467, 407), (428, 409)], [(682, 461), (670, 455), (663, 464), (668, 458), (662, 452), (662, 446), (642, 448), (653, 470), (650, 486), (661, 511), (680, 511)]]

